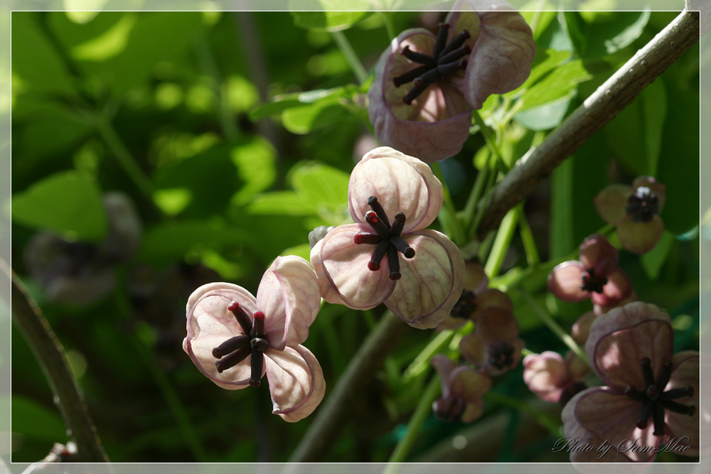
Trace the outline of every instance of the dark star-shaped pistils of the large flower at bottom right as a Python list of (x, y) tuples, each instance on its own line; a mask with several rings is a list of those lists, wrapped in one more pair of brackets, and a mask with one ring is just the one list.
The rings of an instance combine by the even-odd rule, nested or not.
[(669, 383), (669, 378), (671, 377), (671, 362), (664, 362), (661, 374), (657, 380), (654, 379), (649, 357), (644, 357), (639, 362), (639, 365), (642, 367), (642, 377), (645, 387), (643, 389), (637, 389), (629, 385), (624, 393), (634, 401), (641, 402), (642, 404), (637, 418), (637, 428), (646, 428), (649, 417), (651, 416), (654, 423), (654, 435), (662, 436), (664, 434), (665, 409), (689, 416), (695, 413), (695, 406), (688, 406), (673, 401), (681, 397), (691, 397), (694, 393), (694, 389), (693, 387), (682, 387), (663, 392), (664, 387)]

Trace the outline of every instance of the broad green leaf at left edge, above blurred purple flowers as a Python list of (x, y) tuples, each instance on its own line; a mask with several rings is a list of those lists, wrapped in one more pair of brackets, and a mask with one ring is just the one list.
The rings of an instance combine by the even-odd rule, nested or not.
[(56, 173), (14, 195), (12, 219), (87, 242), (101, 240), (107, 232), (99, 186), (76, 171)]

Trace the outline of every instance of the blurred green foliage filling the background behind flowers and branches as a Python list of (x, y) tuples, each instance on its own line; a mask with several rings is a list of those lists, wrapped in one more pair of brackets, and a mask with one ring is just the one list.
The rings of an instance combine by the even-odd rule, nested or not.
[[(338, 40), (345, 36), (368, 70), (389, 42), (387, 23), (396, 33), (436, 29), (443, 16), (12, 14), (13, 266), (68, 350), (111, 460), (288, 459), (311, 420), (285, 424), (272, 416), (266, 385), (227, 392), (205, 379), (181, 349), (187, 297), (209, 281), (255, 291), (274, 257), (307, 256), (314, 227), (348, 222), (348, 174), (377, 144), (364, 108), (370, 78), (358, 83)], [(676, 14), (524, 16), (537, 42), (531, 77), (482, 111), (489, 117), (502, 104), (517, 107), (503, 137), (508, 166)], [(524, 208), (541, 261), (560, 260), (603, 227), (592, 198), (604, 185), (640, 174), (665, 183), (663, 244), (641, 258), (621, 252), (621, 266), (641, 300), (670, 311), (677, 350), (698, 345), (698, 90), (693, 48)], [(474, 134), (458, 156), (441, 163), (457, 208), (464, 208), (486, 153)], [(110, 190), (126, 193), (137, 207), (138, 253), (116, 265), (109, 296), (88, 306), (53, 303), (28, 277), (28, 242), (38, 230), (100, 242), (107, 235), (102, 193)], [(527, 265), (517, 234), (498, 283)], [(590, 303), (561, 303), (547, 294), (551, 265), (530, 267), (520, 286), (567, 329)], [(527, 348), (565, 350), (522, 298), (511, 296)], [(324, 306), (306, 345), (324, 367), (327, 387), (382, 311)], [(387, 460), (430, 376), (412, 362), (432, 337), (410, 330), (385, 366), (373, 367), (373, 382), (353, 397), (352, 422), (323, 460)], [(21, 436), (13, 461), (31, 462), (65, 441), (65, 428), (16, 329), (12, 341), (12, 429)], [(543, 427), (550, 425), (545, 420), (560, 425), (560, 407), (535, 399), (521, 372), (496, 379), (485, 415), (471, 426), (429, 417), (410, 460), (567, 461), (565, 453), (550, 453), (560, 433)], [(544, 421), (532, 421), (524, 406)], [(471, 441), (483, 433), (496, 434), (492, 448), (472, 443), (465, 455), (447, 448), (453, 436)]]

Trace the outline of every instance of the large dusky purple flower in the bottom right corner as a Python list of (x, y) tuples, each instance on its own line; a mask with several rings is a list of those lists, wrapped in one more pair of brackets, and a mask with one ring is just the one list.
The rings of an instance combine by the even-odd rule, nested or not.
[(662, 444), (699, 455), (700, 354), (673, 354), (667, 313), (640, 301), (614, 308), (592, 323), (585, 350), (607, 386), (570, 400), (562, 412), (565, 436), (626, 449), (599, 458), (599, 452), (572, 452), (573, 462), (648, 462)]

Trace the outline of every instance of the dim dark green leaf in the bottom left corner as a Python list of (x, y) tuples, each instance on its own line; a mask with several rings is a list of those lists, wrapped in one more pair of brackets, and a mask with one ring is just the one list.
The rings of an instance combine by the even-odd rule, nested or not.
[(12, 431), (21, 434), (23, 438), (46, 443), (63, 443), (67, 440), (67, 429), (55, 410), (21, 395), (0, 397), (0, 407), (4, 413), (11, 413)]

